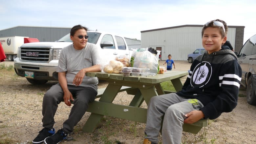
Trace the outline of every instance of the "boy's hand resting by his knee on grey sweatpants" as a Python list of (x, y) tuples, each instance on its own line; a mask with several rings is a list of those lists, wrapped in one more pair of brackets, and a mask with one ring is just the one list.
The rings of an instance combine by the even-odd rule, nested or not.
[(191, 112), (185, 114), (185, 116), (187, 118), (184, 119), (184, 123), (188, 123), (188, 124), (195, 123), (195, 122), (199, 121), (200, 119), (204, 118), (203, 112), (198, 111), (198, 110), (191, 111)]

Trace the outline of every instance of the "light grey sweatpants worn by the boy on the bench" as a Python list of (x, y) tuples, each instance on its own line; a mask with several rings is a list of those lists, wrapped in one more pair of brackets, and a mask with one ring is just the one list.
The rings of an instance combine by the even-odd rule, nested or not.
[(162, 143), (180, 144), (182, 125), (185, 114), (199, 110), (203, 104), (197, 99), (185, 99), (176, 93), (154, 96), (150, 99), (147, 109), (147, 125), (145, 138), (158, 143), (158, 134), (161, 128), (162, 116)]

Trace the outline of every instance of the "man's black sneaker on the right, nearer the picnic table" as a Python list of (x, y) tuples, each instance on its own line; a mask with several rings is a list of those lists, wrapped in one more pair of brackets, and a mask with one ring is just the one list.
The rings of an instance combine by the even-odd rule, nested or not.
[(44, 144), (58, 144), (63, 139), (66, 139), (67, 134), (65, 134), (62, 129), (59, 129), (57, 133), (44, 139)]

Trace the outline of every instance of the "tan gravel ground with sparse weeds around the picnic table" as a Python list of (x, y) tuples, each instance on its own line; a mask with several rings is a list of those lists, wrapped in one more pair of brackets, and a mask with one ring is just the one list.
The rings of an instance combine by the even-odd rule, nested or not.
[[(164, 61), (160, 61), (163, 64)], [(4, 62), (1, 65), (13, 65), (13, 62)], [(0, 65), (0, 66), (1, 66)], [(187, 61), (175, 61), (176, 70), (188, 70)], [(42, 129), (42, 98), (44, 93), (56, 82), (50, 81), (44, 85), (32, 85), (23, 77), (15, 75), (10, 68), (0, 68), (0, 144), (31, 143), (33, 138)], [(182, 78), (184, 82), (186, 77)], [(106, 87), (107, 83), (101, 81), (99, 88)], [(246, 95), (243, 88), (241, 95)], [(114, 103), (128, 104), (132, 95), (125, 92), (118, 93)], [(146, 104), (143, 103), (143, 108)], [(62, 127), (68, 118), (71, 107), (64, 103), (59, 105), (55, 114), (54, 128)], [(239, 97), (237, 107), (230, 113), (223, 113), (219, 118), (210, 120), (209, 125), (199, 134), (183, 133), (184, 144), (253, 144), (256, 143), (256, 107), (246, 102), (246, 97)], [(66, 144), (142, 144), (145, 124), (128, 120), (104, 117), (99, 127), (93, 133), (84, 133), (82, 126), (90, 113), (85, 113), (82, 120), (71, 134), (73, 141), (63, 141)], [(161, 136), (160, 143), (161, 143)]]

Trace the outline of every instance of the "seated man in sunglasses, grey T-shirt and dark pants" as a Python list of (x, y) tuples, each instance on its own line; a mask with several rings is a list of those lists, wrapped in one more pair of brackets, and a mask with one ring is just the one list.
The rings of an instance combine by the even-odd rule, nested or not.
[[(33, 144), (57, 144), (74, 131), (74, 126), (81, 120), (88, 108), (88, 103), (95, 100), (98, 79), (85, 76), (86, 72), (100, 72), (99, 51), (95, 44), (88, 43), (87, 28), (74, 26), (70, 31), (73, 44), (60, 52), (58, 62), (59, 83), (52, 86), (43, 98), (43, 129), (32, 141)], [(74, 100), (75, 97), (76, 99)], [(53, 128), (54, 115), (58, 104), (64, 101), (73, 107), (62, 129), (56, 133)]]

